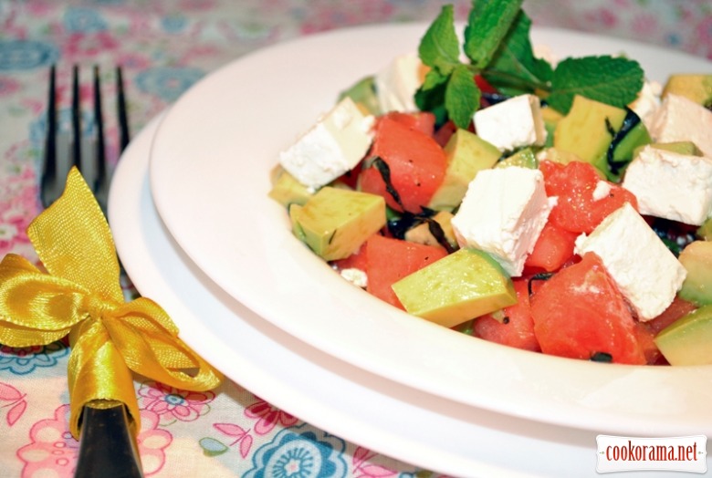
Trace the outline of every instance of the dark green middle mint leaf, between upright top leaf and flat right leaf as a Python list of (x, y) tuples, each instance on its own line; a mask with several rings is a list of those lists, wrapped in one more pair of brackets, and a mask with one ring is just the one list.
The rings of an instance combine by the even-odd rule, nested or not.
[(530, 27), (529, 16), (520, 11), (497, 54), (482, 73), (492, 86), (509, 96), (549, 89), (553, 70), (549, 62), (534, 56)]

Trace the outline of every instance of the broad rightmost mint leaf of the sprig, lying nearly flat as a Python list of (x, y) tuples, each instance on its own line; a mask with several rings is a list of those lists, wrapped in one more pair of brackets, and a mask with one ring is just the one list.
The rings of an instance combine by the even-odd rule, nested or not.
[(547, 102), (563, 114), (571, 109), (574, 95), (623, 108), (636, 98), (643, 83), (644, 71), (637, 61), (611, 56), (566, 58), (554, 70)]

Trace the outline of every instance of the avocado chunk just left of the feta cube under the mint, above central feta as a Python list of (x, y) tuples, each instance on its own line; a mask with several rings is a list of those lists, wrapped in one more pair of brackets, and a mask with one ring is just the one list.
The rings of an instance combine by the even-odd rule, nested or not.
[(428, 203), (430, 209), (452, 211), (462, 203), (477, 171), (491, 168), (501, 156), (497, 148), (468, 130), (456, 130), (445, 144), (447, 170)]

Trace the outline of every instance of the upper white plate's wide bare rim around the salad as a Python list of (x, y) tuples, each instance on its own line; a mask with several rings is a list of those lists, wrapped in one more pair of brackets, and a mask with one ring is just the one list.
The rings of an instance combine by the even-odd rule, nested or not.
[[(309, 36), (233, 62), (186, 92), (152, 146), (157, 209), (194, 263), (260, 317), (314, 348), (447, 400), (589, 430), (712, 434), (712, 367), (626, 367), (504, 348), (420, 320), (341, 280), (267, 197), (277, 154), (340, 89), (417, 47), (424, 25)], [(625, 52), (649, 76), (710, 64), (622, 40), (537, 29), (557, 53)], [(209, 318), (205, 318), (209, 320)], [(234, 347), (192, 340), (199, 352)], [(211, 354), (213, 355), (213, 354)], [(225, 372), (229, 372), (226, 369)]]

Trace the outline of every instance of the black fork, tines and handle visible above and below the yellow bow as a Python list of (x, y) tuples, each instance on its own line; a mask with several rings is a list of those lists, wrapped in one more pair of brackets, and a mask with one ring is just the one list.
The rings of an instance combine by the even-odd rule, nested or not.
[[(84, 175), (101, 210), (106, 214), (110, 185), (104, 138), (99, 68), (93, 68), (93, 114), (96, 135), (89, 146), (81, 129), (79, 68), (72, 68), (71, 139), (58, 128), (57, 68), (49, 70), (47, 103), (47, 139), (40, 183), (40, 199), (45, 207), (53, 203), (64, 189), (67, 173), (77, 166)], [(121, 68), (116, 68), (117, 115), (120, 151), (129, 143), (129, 126)], [(84, 154), (89, 152), (89, 154)], [(139, 478), (143, 476), (136, 442), (135, 423), (126, 406), (116, 400), (92, 400), (84, 406), (79, 419), (79, 461), (75, 478)]]

